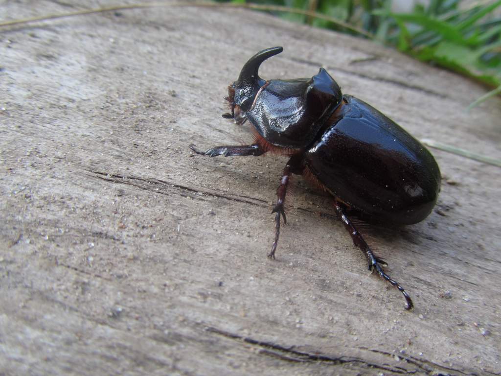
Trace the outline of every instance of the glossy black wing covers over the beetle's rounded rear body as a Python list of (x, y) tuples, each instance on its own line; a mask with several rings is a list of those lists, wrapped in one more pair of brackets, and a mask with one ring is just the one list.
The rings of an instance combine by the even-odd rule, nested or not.
[(410, 225), (433, 209), (440, 170), (430, 152), (394, 121), (345, 95), (304, 163), (338, 199), (368, 219)]

